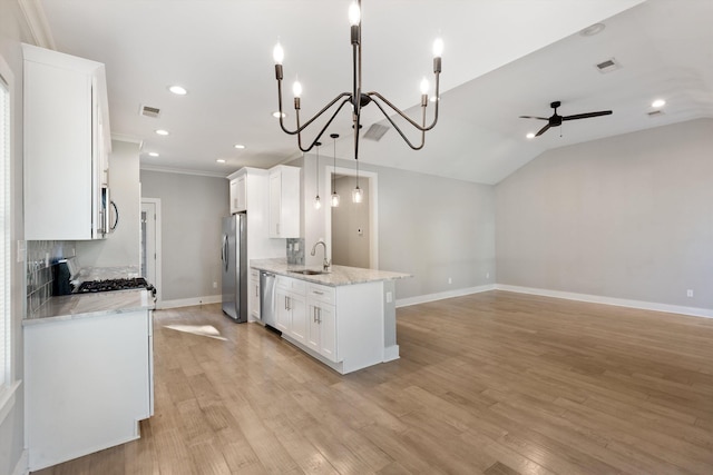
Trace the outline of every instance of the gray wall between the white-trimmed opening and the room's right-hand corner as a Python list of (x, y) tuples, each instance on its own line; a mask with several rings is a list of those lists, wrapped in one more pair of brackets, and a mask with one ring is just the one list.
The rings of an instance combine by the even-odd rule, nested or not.
[(414, 275), (397, 280), (397, 298), (495, 283), (492, 186), (384, 167), (378, 172), (379, 266)]

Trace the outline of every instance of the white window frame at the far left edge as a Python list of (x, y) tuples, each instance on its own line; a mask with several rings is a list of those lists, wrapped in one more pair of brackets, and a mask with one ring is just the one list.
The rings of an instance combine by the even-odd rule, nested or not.
[[(0, 110), (3, 115), (0, 127), (0, 182), (2, 182), (2, 194), (0, 197), (0, 281), (2, 281), (2, 293), (0, 295), (0, 424), (14, 406), (14, 393), (20, 382), (13, 380), (14, 362), (12, 360), (12, 266), (11, 266), (11, 244), (12, 244), (12, 175), (11, 162), (14, 152), (12, 137), (14, 132), (14, 76), (12, 70), (0, 56), (0, 82), (2, 90), (0, 93), (7, 95), (2, 102), (7, 110)], [(6, 92), (7, 90), (7, 92)], [(0, 105), (2, 105), (0, 102)], [(7, 119), (7, 120), (6, 120)]]

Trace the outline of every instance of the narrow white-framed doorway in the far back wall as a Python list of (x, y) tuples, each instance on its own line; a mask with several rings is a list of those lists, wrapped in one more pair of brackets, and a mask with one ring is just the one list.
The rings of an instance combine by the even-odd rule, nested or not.
[(140, 271), (156, 287), (160, 301), (160, 199), (141, 198), (141, 256)]

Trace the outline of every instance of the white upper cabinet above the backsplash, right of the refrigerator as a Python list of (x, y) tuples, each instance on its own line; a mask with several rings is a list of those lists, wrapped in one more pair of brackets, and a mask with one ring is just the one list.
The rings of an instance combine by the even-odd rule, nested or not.
[(300, 168), (270, 169), (270, 237), (300, 237)]

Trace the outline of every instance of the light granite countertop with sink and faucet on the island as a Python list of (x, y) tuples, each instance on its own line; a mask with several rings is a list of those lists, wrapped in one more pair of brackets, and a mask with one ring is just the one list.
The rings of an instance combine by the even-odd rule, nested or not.
[[(251, 259), (250, 266), (254, 269), (266, 270), (268, 273), (287, 276), (300, 280), (306, 280), (314, 284), (321, 284), (330, 287), (339, 287), (353, 284), (365, 284), (380, 280), (395, 280), (413, 277), (411, 274), (391, 273), (388, 270), (362, 269), (359, 267), (332, 266), (328, 274), (319, 274), (314, 276), (296, 274), (307, 267), (303, 265), (287, 264), (287, 259)], [(313, 270), (322, 270), (313, 268)]]

